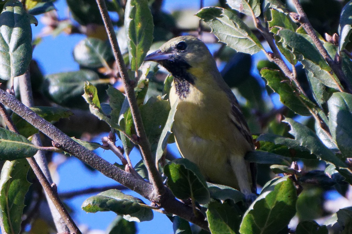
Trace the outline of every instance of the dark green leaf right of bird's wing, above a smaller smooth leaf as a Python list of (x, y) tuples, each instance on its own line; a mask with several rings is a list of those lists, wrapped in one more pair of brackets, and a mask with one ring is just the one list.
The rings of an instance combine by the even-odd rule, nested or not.
[(295, 139), (267, 133), (260, 135), (257, 141), (263, 151), (291, 158), (317, 159), (316, 155), (311, 154), (309, 149)]

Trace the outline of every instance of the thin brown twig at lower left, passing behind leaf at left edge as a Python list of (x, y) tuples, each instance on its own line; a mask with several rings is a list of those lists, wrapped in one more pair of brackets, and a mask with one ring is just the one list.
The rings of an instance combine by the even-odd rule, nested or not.
[[(9, 118), (8, 117), (8, 113), (6, 112), (6, 109), (4, 108), (3, 105), (0, 105), (0, 109), (1, 109), (1, 112), (0, 112), (1, 116), (4, 119)], [(7, 115), (7, 117), (6, 117), (6, 115)], [(8, 124), (7, 127), (11, 131), (18, 133), (18, 131), (15, 131), (15, 126), (13, 125), (12, 121), (7, 122), (7, 124)], [(67, 210), (64, 207), (63, 203), (61, 202), (61, 200), (58, 198), (57, 191), (54, 190), (51, 187), (49, 181), (46, 179), (46, 177), (43, 174), (42, 170), (39, 168), (36, 160), (34, 160), (34, 158), (27, 158), (27, 161), (29, 162), (29, 165), (32, 167), (34, 174), (37, 176), (37, 178), (38, 178), (40, 184), (42, 185), (42, 187), (44, 188), (45, 192), (49, 195), (50, 200), (54, 203), (54, 205), (57, 208), (58, 212), (61, 214), (61, 216), (64, 219), (64, 221), (65, 221), (67, 227), (69, 228), (70, 232), (71, 233), (80, 234), (81, 233), (80, 230), (78, 229), (78, 227), (76, 226), (76, 224), (72, 220), (71, 216), (67, 212)]]

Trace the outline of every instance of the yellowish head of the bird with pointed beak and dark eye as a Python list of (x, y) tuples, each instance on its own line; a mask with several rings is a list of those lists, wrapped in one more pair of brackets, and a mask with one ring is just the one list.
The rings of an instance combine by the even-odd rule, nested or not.
[(160, 49), (147, 55), (145, 61), (158, 62), (175, 78), (186, 80), (190, 74), (197, 78), (197, 73), (216, 69), (209, 49), (194, 36), (178, 36), (169, 40)]

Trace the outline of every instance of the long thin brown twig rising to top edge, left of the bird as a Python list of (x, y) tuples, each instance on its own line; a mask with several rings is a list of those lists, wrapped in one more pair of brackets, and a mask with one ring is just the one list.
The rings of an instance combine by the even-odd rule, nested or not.
[(137, 135), (139, 136), (139, 148), (142, 153), (143, 161), (148, 171), (149, 180), (152, 183), (156, 195), (162, 195), (165, 193), (165, 187), (163, 185), (163, 180), (159, 174), (157, 168), (154, 165), (154, 159), (151, 154), (150, 144), (147, 139), (145, 129), (143, 126), (142, 116), (140, 115), (136, 95), (134, 93), (134, 87), (132, 85), (130, 78), (128, 77), (127, 68), (122, 58), (122, 54), (117, 42), (116, 34), (107, 11), (107, 7), (104, 0), (96, 0), (99, 11), (101, 13), (110, 44), (113, 48), (114, 57), (116, 59), (118, 68), (120, 70), (120, 75), (122, 83), (125, 87), (126, 96), (128, 103), (131, 108), (131, 114), (133, 118), (134, 127), (136, 128)]

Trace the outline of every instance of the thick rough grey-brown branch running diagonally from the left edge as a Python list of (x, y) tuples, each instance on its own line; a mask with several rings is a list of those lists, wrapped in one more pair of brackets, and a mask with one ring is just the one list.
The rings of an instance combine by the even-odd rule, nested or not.
[(100, 158), (94, 152), (89, 151), (84, 146), (72, 140), (50, 122), (46, 121), (31, 109), (23, 105), (23, 103), (18, 101), (13, 95), (6, 93), (2, 89), (0, 89), (0, 102), (9, 107), (13, 112), (17, 113), (31, 125), (39, 129), (39, 131), (47, 135), (49, 138), (58, 142), (65, 152), (76, 156), (76, 158), (100, 171), (108, 178), (111, 178), (119, 182), (121, 185), (130, 188), (131, 190), (144, 196), (146, 199), (158, 203), (158, 205), (164, 208), (165, 212), (178, 215), (205, 230), (209, 230), (208, 222), (205, 221), (202, 213), (197, 212), (197, 214), (194, 214), (192, 208), (176, 200), (175, 196), (168, 188), (165, 187), (166, 193), (163, 195), (156, 195), (153, 192), (153, 186), (150, 183), (144, 180), (136, 179), (131, 173), (125, 172), (108, 161)]

